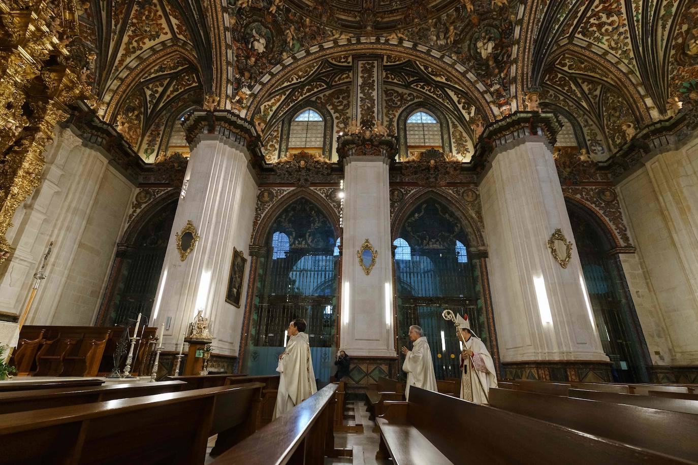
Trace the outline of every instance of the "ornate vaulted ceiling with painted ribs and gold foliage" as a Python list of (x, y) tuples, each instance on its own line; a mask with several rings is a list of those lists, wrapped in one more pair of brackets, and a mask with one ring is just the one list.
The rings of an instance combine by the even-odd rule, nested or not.
[(339, 108), (347, 63), (329, 49), (399, 57), (386, 62), (385, 98), (429, 100), (468, 138), (470, 116), (525, 108), (538, 90), (597, 159), (625, 144), (628, 125), (667, 118), (667, 100), (698, 78), (698, 4), (688, 0), (91, 0), (78, 9), (98, 114), (149, 162), (211, 91), (218, 107), (265, 121), (265, 137), (299, 100)]

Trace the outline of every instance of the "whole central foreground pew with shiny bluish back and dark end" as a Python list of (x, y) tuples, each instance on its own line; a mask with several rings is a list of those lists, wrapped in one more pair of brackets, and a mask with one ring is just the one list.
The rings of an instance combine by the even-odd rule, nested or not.
[(330, 383), (293, 410), (214, 460), (215, 465), (322, 465), (325, 457), (351, 457), (334, 448), (334, 391)]

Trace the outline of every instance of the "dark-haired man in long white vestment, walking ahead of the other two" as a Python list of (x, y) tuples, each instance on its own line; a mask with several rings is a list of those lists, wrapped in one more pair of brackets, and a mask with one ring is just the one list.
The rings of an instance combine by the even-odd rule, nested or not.
[(295, 319), (288, 325), (288, 343), (285, 351), (279, 356), (279, 366), (276, 367), (281, 376), (274, 418), (288, 412), (318, 391), (310, 356), (310, 342), (305, 330), (304, 319)]

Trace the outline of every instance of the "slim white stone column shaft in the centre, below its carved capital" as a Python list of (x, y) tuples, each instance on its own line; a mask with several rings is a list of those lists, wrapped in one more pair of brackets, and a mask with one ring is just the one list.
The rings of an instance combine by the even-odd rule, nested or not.
[[(396, 356), (388, 167), (385, 156), (345, 159), (341, 348), (352, 356)], [(378, 252), (370, 275), (357, 257), (366, 239)]]

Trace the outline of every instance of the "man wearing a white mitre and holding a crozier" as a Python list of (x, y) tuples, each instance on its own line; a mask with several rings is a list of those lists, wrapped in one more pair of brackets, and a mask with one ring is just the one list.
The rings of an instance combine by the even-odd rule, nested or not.
[(497, 375), (492, 356), (484, 342), (470, 330), (468, 315), (465, 318), (456, 314), (461, 331), (461, 399), (475, 404), (489, 404), (489, 388), (497, 387)]

